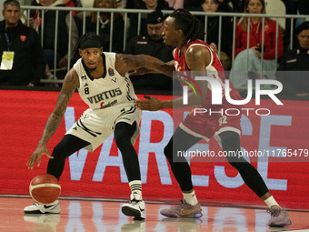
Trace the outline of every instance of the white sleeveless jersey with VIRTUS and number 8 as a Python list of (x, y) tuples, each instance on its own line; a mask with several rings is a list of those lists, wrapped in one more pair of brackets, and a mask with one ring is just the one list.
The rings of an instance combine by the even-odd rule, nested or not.
[(93, 110), (134, 103), (137, 97), (128, 74), (120, 76), (115, 70), (115, 53), (103, 53), (102, 57), (105, 73), (99, 79), (90, 76), (82, 58), (75, 63), (80, 83), (79, 95)]

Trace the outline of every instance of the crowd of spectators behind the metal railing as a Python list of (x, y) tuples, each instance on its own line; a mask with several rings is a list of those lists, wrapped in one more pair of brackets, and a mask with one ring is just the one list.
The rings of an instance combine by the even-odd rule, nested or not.
[[(162, 11), (184, 8), (192, 13), (205, 12), (204, 15), (207, 15), (196, 15), (205, 28), (204, 40), (220, 57), (224, 70), (230, 71), (228, 76), (236, 88), (246, 89), (248, 78), (277, 79), (284, 83), (284, 86), (288, 86), (284, 88), (284, 95), (309, 96), (309, 76), (300, 73), (294, 78), (293, 75), (283, 73), (309, 71), (307, 0), (20, 1), (22, 5), (46, 7), (151, 10), (149, 14), (140, 15), (77, 10), (72, 14), (60, 10), (56, 14), (55, 8), (47, 9), (44, 13), (42, 10), (22, 11), (15, 2), (6, 0), (5, 3), (8, 5), (3, 5), (4, 19), (0, 22), (0, 86), (58, 87), (61, 82), (56, 81), (57, 77), (62, 77), (56, 77), (53, 70), (66, 71), (68, 66), (73, 66), (70, 51), (72, 52), (80, 35), (91, 31), (100, 35), (106, 52), (153, 55), (168, 62), (173, 59), (174, 48), (164, 45), (162, 30), (167, 15)], [(219, 16), (213, 13), (230, 14)], [(254, 15), (234, 16), (231, 13)], [(279, 14), (299, 17), (294, 17), (291, 21), (291, 18), (268, 16)], [(8, 21), (11, 21), (11, 25), (7, 24)], [(33, 43), (27, 44), (26, 52), (23, 35), (31, 38)], [(40, 82), (40, 79), (49, 80), (49, 84)], [(137, 92), (161, 90), (166, 94), (172, 94), (173, 87), (177, 85), (163, 75), (131, 76), (131, 79)], [(155, 79), (155, 82), (152, 79)], [(265, 86), (267, 87), (272, 88)]]

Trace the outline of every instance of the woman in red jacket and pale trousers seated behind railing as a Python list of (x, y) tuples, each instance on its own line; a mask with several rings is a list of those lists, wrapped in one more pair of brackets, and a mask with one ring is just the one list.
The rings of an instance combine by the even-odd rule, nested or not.
[[(245, 0), (244, 13), (265, 14), (264, 0)], [(248, 23), (249, 21), (250, 23)], [(265, 18), (264, 28), (262, 17), (242, 17), (239, 20), (236, 25), (236, 56), (230, 76), (235, 87), (245, 87), (248, 78), (274, 79), (275, 56), (277, 55), (277, 58), (279, 58), (284, 52), (280, 29), (278, 33), (278, 40), (276, 41), (276, 22), (269, 18)], [(247, 35), (249, 35), (249, 45), (247, 45)], [(277, 54), (275, 54), (276, 44)], [(253, 76), (249, 77), (246, 71), (252, 73)], [(259, 72), (257, 73), (257, 71)]]

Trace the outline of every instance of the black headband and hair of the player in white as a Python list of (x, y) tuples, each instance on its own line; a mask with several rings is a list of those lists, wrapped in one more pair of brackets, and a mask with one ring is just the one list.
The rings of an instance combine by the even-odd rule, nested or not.
[(72, 57), (73, 57), (73, 64), (80, 58), (78, 49), (85, 49), (89, 47), (96, 47), (101, 48), (101, 41), (100, 36), (96, 35), (94, 32), (86, 33), (80, 36), (77, 40), (75, 48), (73, 49)]

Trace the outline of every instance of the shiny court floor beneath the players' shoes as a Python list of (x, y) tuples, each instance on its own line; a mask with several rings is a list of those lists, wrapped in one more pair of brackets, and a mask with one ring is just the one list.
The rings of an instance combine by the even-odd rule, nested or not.
[(269, 215), (264, 209), (203, 206), (200, 219), (166, 218), (160, 210), (170, 207), (164, 202), (146, 202), (146, 219), (135, 221), (121, 212), (124, 202), (114, 200), (61, 199), (59, 215), (24, 215), (23, 209), (33, 204), (31, 198), (0, 197), (0, 231), (121, 231), (121, 232), (197, 232), (197, 231), (306, 231), (309, 211), (289, 211), (292, 225), (284, 228), (267, 226)]

